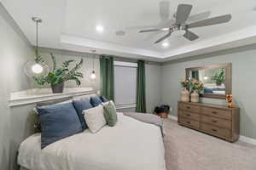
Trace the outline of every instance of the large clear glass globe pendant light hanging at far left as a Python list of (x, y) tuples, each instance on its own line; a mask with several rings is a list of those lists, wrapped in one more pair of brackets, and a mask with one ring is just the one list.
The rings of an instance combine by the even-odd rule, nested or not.
[(41, 55), (38, 54), (38, 23), (42, 23), (43, 20), (39, 19), (38, 17), (32, 17), (32, 20), (36, 22), (36, 56), (34, 60), (26, 63), (24, 66), (24, 71), (28, 77), (38, 77), (47, 75), (49, 68), (48, 65), (44, 64), (44, 59), (41, 57)]

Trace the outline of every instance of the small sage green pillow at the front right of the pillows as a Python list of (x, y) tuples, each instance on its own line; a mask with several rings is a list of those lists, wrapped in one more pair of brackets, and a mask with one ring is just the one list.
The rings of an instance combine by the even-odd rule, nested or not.
[(109, 127), (113, 127), (117, 122), (117, 114), (113, 101), (109, 101), (108, 104), (103, 105), (104, 116)]

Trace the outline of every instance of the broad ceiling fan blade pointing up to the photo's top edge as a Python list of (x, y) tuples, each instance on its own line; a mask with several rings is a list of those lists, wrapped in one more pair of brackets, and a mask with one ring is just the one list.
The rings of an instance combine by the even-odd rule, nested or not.
[(179, 4), (177, 6), (177, 12), (176, 12), (177, 24), (183, 24), (186, 20), (188, 20), (191, 9), (192, 9), (192, 5), (189, 5), (189, 4)]

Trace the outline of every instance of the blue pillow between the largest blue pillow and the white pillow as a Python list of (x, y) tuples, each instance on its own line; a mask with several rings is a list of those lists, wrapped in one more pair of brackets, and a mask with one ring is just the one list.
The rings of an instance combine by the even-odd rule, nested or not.
[(86, 129), (87, 124), (84, 120), (83, 111), (92, 108), (92, 105), (90, 105), (90, 100), (88, 98), (73, 100), (73, 107), (77, 111), (83, 130)]

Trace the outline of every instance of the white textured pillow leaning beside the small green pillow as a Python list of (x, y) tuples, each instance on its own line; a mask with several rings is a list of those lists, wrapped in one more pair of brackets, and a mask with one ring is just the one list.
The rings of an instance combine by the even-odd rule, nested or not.
[(103, 112), (104, 111), (102, 105), (98, 105), (94, 108), (84, 111), (84, 119), (90, 129), (90, 132), (96, 133), (101, 130), (104, 125), (107, 124)]

